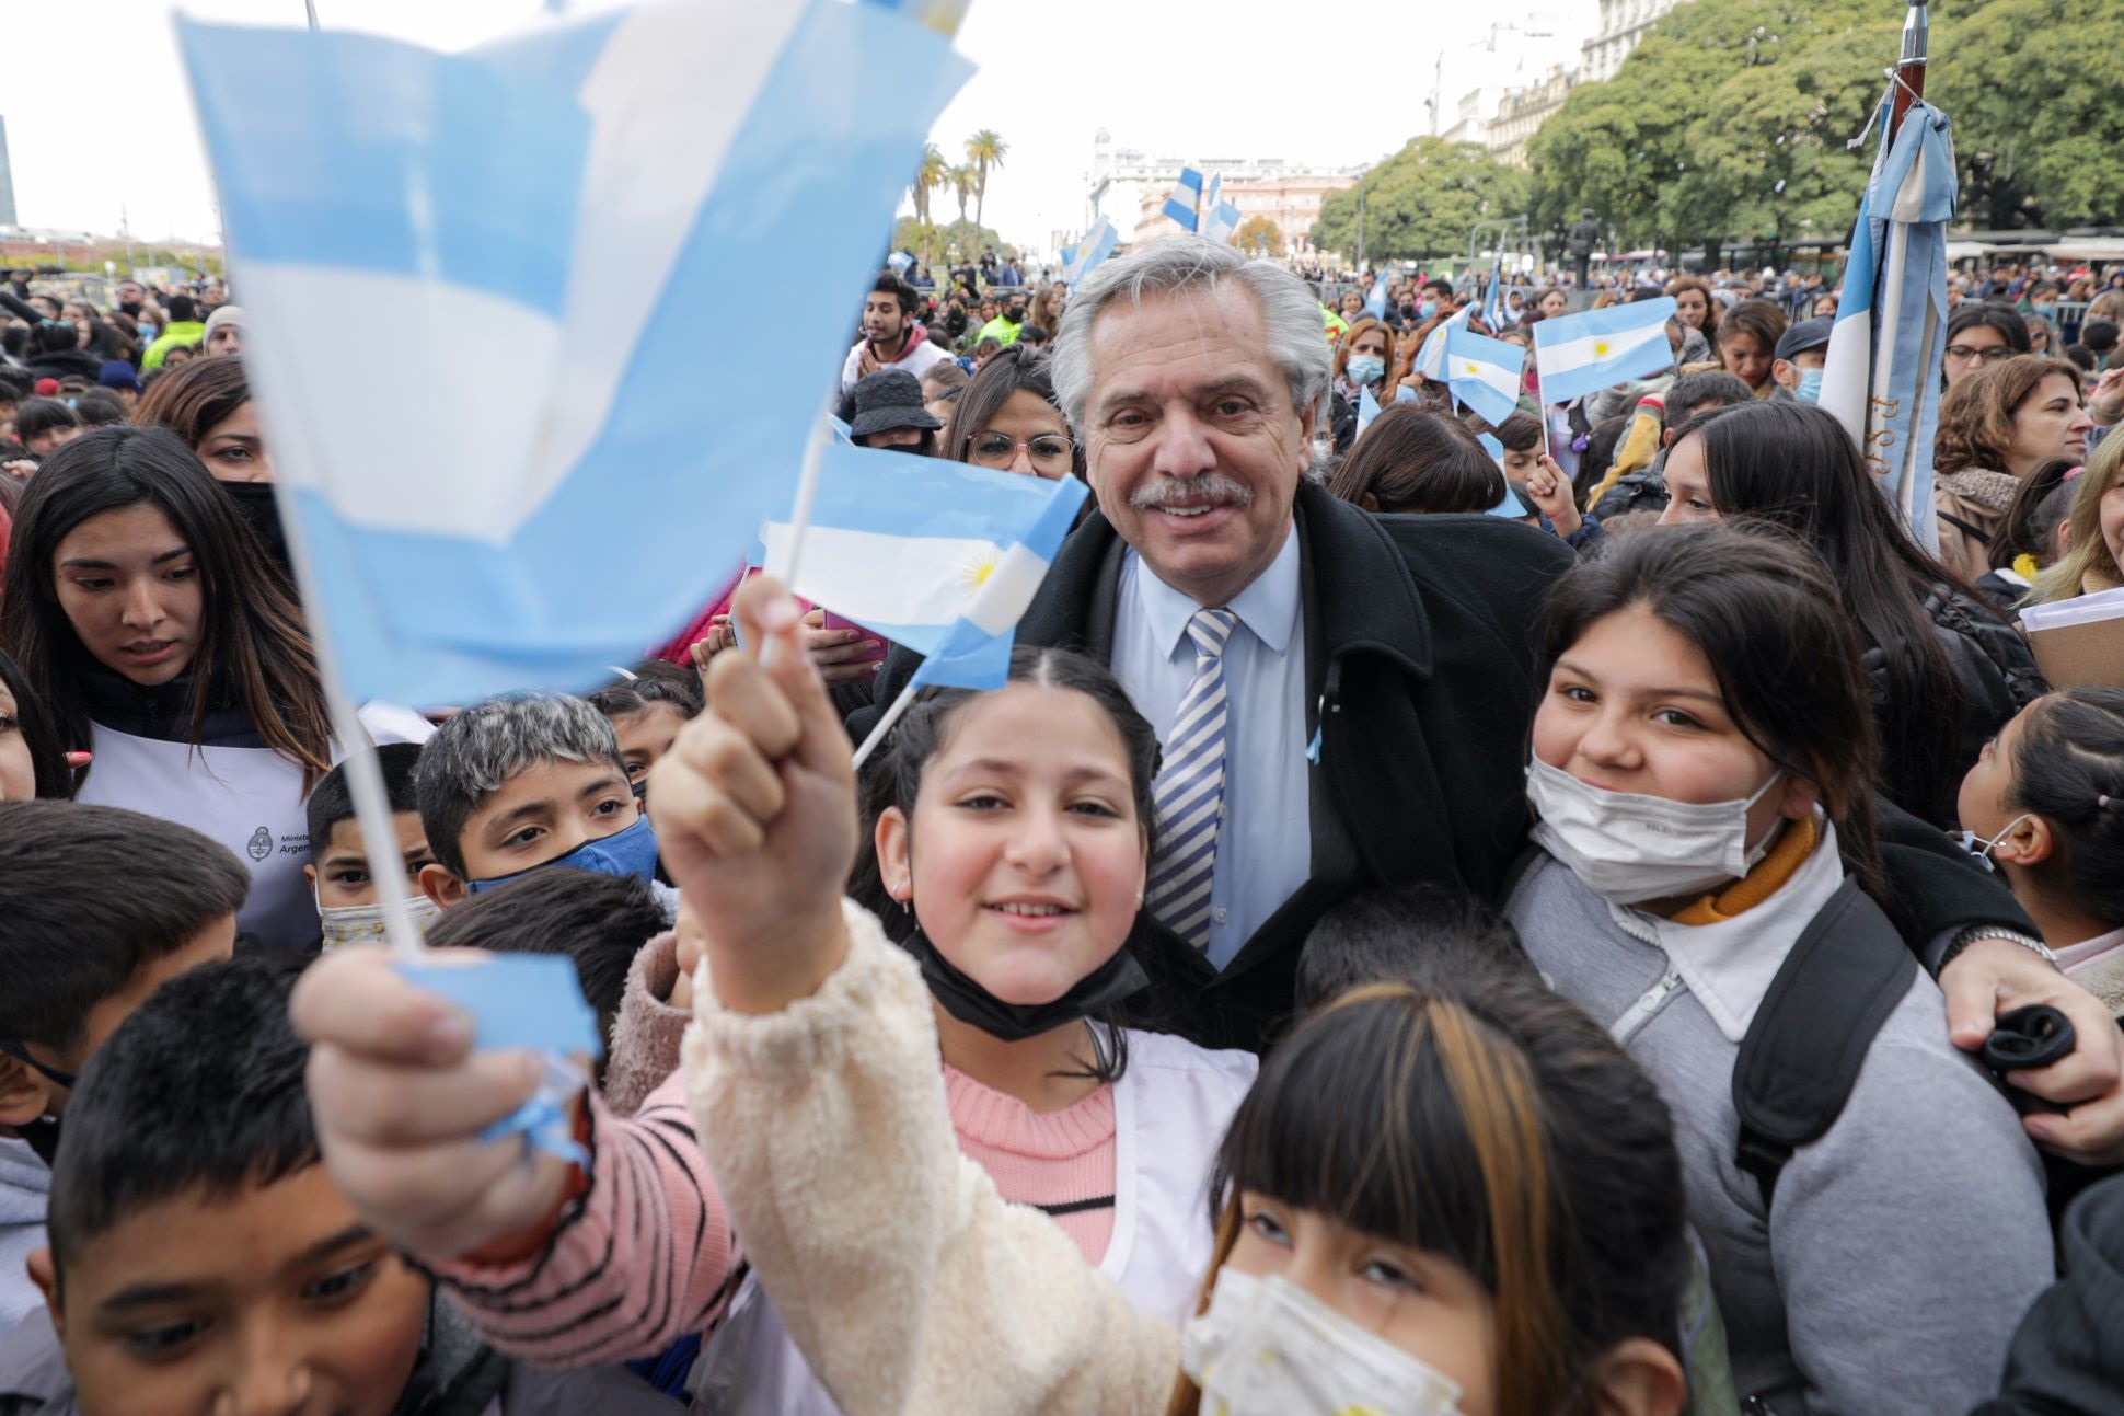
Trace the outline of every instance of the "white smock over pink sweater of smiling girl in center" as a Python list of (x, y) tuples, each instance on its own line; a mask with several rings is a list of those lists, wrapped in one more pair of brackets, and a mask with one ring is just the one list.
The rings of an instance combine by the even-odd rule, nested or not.
[[(1257, 1069), (1253, 1052), (1128, 1029), (1128, 1072), (1113, 1084), (1113, 1235), (1098, 1271), (1175, 1327), (1194, 1316), (1209, 1271), (1209, 1174)], [(752, 1274), (703, 1344), (692, 1390), (695, 1410), (718, 1416), (841, 1416)]]

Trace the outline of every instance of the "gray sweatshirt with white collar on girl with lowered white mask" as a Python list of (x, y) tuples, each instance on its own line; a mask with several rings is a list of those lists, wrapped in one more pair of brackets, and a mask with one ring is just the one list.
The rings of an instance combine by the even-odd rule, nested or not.
[[(1542, 831), (1544, 827), (1538, 827)], [(2043, 1174), (2020, 1118), (1948, 1042), (1922, 972), (1844, 1114), (1765, 1214), (1735, 1161), (1733, 1061), (1769, 980), (1844, 882), (1835, 833), (1767, 901), (1684, 927), (1623, 910), (1536, 853), (1506, 914), (1555, 989), (1674, 1108), (1689, 1218), (1712, 1261), (1733, 1386), (1778, 1416), (1937, 1416), (1999, 1388), (2052, 1278)]]

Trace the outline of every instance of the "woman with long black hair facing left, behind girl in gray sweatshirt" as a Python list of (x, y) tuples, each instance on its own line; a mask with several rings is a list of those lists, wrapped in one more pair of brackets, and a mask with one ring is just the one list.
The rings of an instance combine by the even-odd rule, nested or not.
[(1829, 566), (1873, 682), (1882, 791), (1954, 825), (1954, 782), (2043, 691), (2014, 627), (1895, 525), (1837, 419), (1810, 404), (1720, 408), (1676, 429), (1667, 525), (1774, 521)]

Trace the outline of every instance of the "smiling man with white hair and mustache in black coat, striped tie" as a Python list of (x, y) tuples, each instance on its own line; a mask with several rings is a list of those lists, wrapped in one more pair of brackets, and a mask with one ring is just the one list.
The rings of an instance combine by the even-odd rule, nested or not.
[[(1351, 893), (1502, 895), (1527, 846), (1538, 621), (1574, 563), (1502, 517), (1374, 517), (1332, 498), (1306, 476), (1328, 374), (1306, 285), (1198, 236), (1100, 266), (1054, 351), (1098, 512), (1017, 642), (1111, 665), (1164, 744), (1145, 887), (1164, 929), (1138, 959), (1192, 995), (1189, 1031), (1217, 1046), (1266, 1044), (1300, 944)], [(894, 651), (875, 704), (918, 663)], [(875, 717), (858, 710), (850, 731)], [(1914, 946), (1958, 955), (1958, 1021), (2056, 980), (1997, 938), (2033, 933), (2011, 895), (1909, 825), (1914, 846), (1890, 833), (1884, 857)], [(2105, 1097), (2088, 1123), (2113, 1125), (2113, 1144), (2116, 1029), (2096, 1042), (2069, 1089)]]

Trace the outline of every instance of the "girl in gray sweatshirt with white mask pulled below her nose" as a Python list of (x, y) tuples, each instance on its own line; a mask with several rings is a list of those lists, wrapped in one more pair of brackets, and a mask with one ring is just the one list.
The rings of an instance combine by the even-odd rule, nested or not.
[[(1540, 659), (1538, 853), (1506, 914), (1676, 1112), (1744, 1407), (1969, 1410), (2052, 1276), (2043, 1178), (1897, 957), (1844, 589), (1780, 532), (1663, 529), (1557, 583)], [(1861, 984), (1856, 959), (1895, 967)], [(1776, 1048), (1744, 1042), (1808, 980), (1871, 987), (1878, 1031), (1827, 1129), (1765, 1176), (1735, 1097)]]

